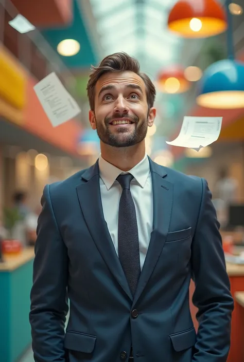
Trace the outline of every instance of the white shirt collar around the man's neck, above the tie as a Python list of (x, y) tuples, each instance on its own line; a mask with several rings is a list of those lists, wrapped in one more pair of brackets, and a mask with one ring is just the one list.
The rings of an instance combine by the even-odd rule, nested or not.
[[(122, 171), (108, 161), (104, 160), (101, 155), (99, 157), (98, 164), (100, 178), (102, 179), (108, 190), (112, 187), (116, 178), (120, 174), (127, 174), (127, 172)], [(128, 173), (130, 173), (135, 178), (137, 183), (142, 188), (144, 188), (148, 175), (150, 174), (150, 164), (147, 155), (145, 155), (144, 159), (141, 162), (137, 163), (137, 165), (129, 170)]]

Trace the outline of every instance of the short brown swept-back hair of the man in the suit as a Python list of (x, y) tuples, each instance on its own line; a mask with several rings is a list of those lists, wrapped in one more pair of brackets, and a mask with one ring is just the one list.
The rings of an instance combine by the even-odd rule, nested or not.
[(88, 86), (86, 89), (88, 91), (88, 99), (92, 110), (94, 110), (95, 107), (95, 86), (101, 75), (108, 72), (123, 71), (132, 71), (143, 79), (146, 86), (148, 107), (153, 107), (156, 90), (148, 75), (140, 72), (140, 64), (137, 59), (124, 52), (114, 53), (106, 56), (106, 58), (101, 61), (98, 67), (92, 66), (91, 69), (92, 72), (90, 74)]

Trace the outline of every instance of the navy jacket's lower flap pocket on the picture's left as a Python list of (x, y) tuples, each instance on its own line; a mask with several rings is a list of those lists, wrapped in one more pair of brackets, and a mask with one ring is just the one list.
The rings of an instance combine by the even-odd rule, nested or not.
[(66, 331), (64, 347), (68, 350), (92, 353), (97, 337), (90, 334)]

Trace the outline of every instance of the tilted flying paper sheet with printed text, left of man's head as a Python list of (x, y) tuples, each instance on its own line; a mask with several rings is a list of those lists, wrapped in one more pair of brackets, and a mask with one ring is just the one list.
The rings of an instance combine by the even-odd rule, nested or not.
[(54, 72), (37, 83), (34, 91), (54, 127), (76, 117), (81, 112), (77, 102)]

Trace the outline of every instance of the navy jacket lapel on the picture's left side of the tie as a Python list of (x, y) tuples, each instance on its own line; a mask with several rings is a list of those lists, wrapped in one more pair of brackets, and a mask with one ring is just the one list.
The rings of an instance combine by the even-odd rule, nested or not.
[(119, 262), (103, 215), (98, 161), (82, 175), (82, 183), (77, 186), (77, 195), (85, 222), (97, 249), (118, 283), (132, 299), (125, 273)]

